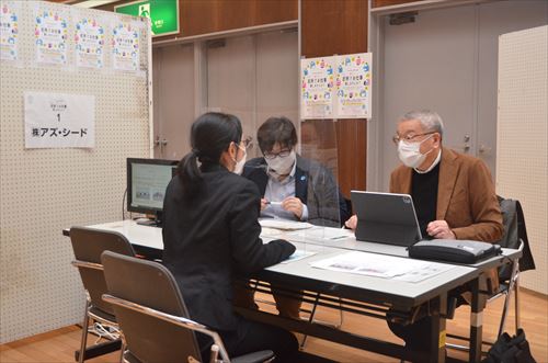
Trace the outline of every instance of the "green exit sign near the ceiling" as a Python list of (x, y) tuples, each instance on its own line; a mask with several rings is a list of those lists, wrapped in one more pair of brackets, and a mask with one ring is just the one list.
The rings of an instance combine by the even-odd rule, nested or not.
[(114, 11), (149, 18), (152, 36), (179, 33), (179, 0), (134, 1), (114, 7)]

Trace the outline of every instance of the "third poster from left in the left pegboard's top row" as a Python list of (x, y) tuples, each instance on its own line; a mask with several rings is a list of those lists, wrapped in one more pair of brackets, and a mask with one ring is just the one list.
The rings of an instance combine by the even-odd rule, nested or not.
[(101, 69), (104, 66), (104, 25), (96, 19), (75, 21), (76, 66)]

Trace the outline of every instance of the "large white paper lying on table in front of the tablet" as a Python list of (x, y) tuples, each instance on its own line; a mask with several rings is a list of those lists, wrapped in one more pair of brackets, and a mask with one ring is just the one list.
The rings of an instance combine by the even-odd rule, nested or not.
[(419, 282), (455, 268), (443, 263), (358, 251), (316, 261), (311, 266), (407, 282)]

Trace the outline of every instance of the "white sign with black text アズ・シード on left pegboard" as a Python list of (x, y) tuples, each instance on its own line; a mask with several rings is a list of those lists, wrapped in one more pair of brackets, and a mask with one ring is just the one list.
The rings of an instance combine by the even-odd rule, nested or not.
[(95, 146), (95, 97), (24, 93), (25, 148)]

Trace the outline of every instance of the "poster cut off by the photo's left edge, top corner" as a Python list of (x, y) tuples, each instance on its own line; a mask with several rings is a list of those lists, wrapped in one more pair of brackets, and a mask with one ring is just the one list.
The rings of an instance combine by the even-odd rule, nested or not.
[(0, 59), (18, 60), (19, 18), (21, 2), (0, 3)]

